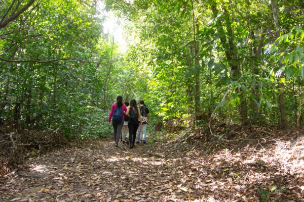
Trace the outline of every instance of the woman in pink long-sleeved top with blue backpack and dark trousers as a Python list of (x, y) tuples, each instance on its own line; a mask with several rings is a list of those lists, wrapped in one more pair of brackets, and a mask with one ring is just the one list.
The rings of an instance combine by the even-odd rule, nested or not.
[(112, 125), (114, 128), (115, 147), (119, 148), (118, 142), (124, 125), (124, 119), (127, 112), (127, 107), (123, 104), (123, 96), (118, 95), (116, 100), (117, 103), (113, 103), (111, 107), (108, 123), (110, 124), (112, 119)]

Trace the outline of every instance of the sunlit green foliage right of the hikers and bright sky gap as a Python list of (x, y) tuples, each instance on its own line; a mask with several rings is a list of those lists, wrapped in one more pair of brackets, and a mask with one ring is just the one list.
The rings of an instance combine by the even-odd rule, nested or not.
[[(199, 73), (200, 109), (207, 119), (213, 113), (217, 120), (241, 123), (243, 106), (247, 123), (278, 124), (280, 82), (286, 87), (287, 120), (301, 124), (303, 12), (298, 2), (276, 4), (279, 38), (267, 1), (134, 1), (138, 12), (133, 20), (141, 40), (130, 59), (151, 73), (142, 89), (157, 117), (189, 120)], [(199, 31), (194, 33), (196, 24)]]

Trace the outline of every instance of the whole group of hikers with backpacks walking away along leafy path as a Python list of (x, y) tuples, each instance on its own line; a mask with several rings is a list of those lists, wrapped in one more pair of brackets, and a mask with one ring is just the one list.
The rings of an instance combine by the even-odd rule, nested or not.
[[(123, 97), (117, 96), (117, 102), (113, 103), (109, 114), (108, 123), (112, 119), (114, 129), (115, 147), (119, 148), (119, 140), (123, 144), (130, 143), (130, 148), (134, 147), (136, 134), (137, 143), (146, 143), (146, 128), (149, 125), (149, 110), (144, 104), (144, 100), (139, 100), (137, 106), (136, 100), (131, 99), (130, 103), (123, 103)], [(142, 133), (142, 139), (141, 139)]]

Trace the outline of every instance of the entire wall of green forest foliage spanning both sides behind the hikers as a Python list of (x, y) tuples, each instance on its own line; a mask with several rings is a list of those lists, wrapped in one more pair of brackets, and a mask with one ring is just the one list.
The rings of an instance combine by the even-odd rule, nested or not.
[[(3, 19), (14, 14), (11, 4), (2, 4)], [(0, 124), (108, 136), (118, 94), (144, 99), (151, 123), (170, 130), (204, 127), (211, 116), (274, 125), (283, 104), (288, 122), (303, 123), (298, 1), (275, 1), (276, 19), (269, 1), (104, 4), (132, 21), (126, 26), (134, 43), (125, 55), (102, 34), (104, 19), (91, 0), (35, 1), (0, 28)]]

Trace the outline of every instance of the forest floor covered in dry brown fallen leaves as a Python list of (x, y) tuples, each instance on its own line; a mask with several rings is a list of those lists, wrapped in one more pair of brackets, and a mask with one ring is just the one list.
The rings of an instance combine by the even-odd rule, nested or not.
[(94, 140), (32, 156), (0, 177), (0, 201), (304, 201), (304, 138), (284, 138), (209, 154), (201, 140)]

